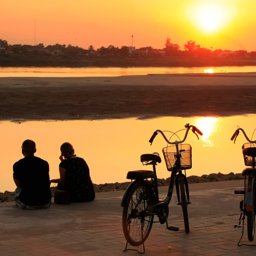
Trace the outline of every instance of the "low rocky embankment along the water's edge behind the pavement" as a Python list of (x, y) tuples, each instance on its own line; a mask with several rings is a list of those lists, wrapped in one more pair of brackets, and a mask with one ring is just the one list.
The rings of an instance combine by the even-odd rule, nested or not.
[[(244, 179), (244, 176), (241, 173), (211, 173), (209, 175), (199, 176), (189, 176), (187, 177), (187, 181), (189, 184), (191, 183), (201, 183), (201, 182), (218, 182), (218, 181), (233, 181), (235, 179)], [(158, 186), (168, 186), (170, 182), (170, 177), (167, 179), (158, 179)], [(105, 184), (94, 184), (95, 192), (106, 192), (106, 191), (116, 191), (116, 190), (126, 190), (131, 182), (123, 182), (123, 183), (105, 183)], [(54, 196), (54, 192), (56, 187), (51, 187), (52, 196)], [(97, 196), (96, 196), (97, 197)], [(14, 201), (14, 192), (5, 191), (4, 193), (0, 192), (0, 203), (3, 202)]]

